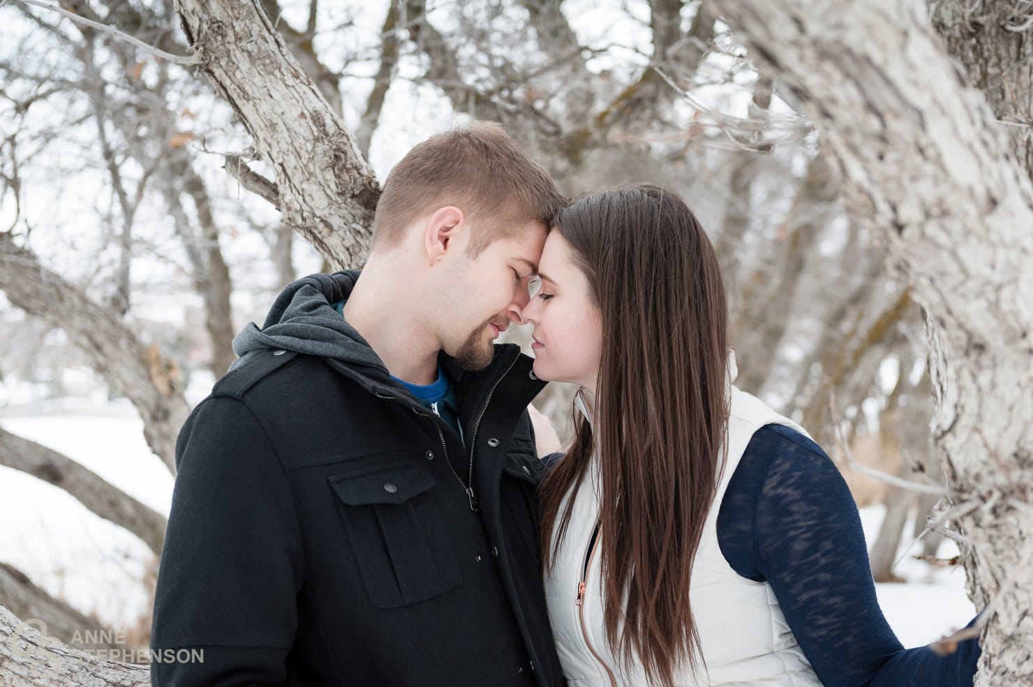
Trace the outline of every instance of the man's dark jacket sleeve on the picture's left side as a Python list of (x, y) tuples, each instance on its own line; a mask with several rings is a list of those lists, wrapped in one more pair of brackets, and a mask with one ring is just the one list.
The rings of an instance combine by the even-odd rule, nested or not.
[(273, 447), (245, 402), (210, 397), (187, 420), (176, 454), (152, 684), (282, 685), (298, 626), (302, 539)]

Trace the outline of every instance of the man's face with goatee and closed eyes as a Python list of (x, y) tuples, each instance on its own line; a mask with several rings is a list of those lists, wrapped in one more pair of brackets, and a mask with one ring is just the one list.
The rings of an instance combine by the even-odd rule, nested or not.
[[(538, 271), (545, 225), (527, 222), (512, 238), (492, 241), (476, 258), (459, 256), (450, 271), (444, 312), (450, 322), (442, 333), (444, 352), (464, 369), (483, 369), (495, 353), (494, 341), (530, 299), (529, 283)], [(443, 294), (445, 295), (445, 294)]]

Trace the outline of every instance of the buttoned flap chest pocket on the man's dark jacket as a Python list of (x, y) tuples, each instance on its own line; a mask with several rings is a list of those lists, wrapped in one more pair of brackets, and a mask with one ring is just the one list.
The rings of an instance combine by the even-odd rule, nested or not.
[(408, 606), (459, 586), (459, 563), (428, 493), (430, 473), (397, 465), (327, 480), (373, 606)]

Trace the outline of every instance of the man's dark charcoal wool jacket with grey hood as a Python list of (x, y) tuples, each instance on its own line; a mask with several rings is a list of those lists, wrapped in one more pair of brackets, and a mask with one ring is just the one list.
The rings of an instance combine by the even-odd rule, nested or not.
[(155, 687), (564, 684), (525, 412), (543, 383), (512, 345), (479, 372), (442, 354), (464, 447), (331, 307), (357, 276), (291, 284), (183, 427), (152, 648), (204, 662), (153, 662)]

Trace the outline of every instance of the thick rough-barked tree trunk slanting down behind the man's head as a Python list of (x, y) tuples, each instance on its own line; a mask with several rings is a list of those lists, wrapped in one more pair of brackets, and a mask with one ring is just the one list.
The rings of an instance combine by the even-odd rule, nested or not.
[(178, 0), (200, 69), (276, 174), (283, 220), (335, 267), (358, 266), (379, 185), (257, 0)]

